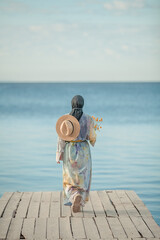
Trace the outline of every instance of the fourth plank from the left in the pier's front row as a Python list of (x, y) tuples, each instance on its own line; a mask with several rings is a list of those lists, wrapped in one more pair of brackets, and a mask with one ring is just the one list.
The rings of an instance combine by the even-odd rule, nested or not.
[(46, 238), (46, 218), (36, 218), (35, 240), (44, 240)]

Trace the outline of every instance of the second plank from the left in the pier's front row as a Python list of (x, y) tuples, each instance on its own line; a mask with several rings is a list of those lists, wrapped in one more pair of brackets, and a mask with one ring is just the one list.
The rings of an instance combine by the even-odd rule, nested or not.
[(23, 218), (12, 218), (11, 225), (7, 234), (7, 239), (17, 240), (20, 239)]

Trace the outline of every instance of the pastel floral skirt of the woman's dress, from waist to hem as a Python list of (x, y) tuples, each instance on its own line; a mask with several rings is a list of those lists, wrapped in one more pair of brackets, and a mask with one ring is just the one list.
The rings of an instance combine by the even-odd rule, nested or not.
[(88, 142), (66, 144), (63, 159), (64, 205), (72, 205), (74, 196), (82, 196), (81, 205), (88, 201), (92, 176), (92, 160)]

